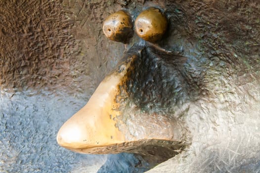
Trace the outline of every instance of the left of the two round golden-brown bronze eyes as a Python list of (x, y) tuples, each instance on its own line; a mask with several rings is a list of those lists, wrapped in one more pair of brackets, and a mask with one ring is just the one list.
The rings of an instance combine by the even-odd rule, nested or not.
[(103, 32), (110, 40), (127, 43), (132, 37), (132, 27), (129, 13), (121, 10), (106, 18), (103, 24)]

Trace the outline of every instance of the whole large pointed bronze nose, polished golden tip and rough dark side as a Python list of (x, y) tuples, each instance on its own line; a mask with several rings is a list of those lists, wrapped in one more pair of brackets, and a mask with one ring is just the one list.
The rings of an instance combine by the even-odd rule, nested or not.
[(169, 57), (156, 52), (131, 47), (86, 106), (61, 127), (58, 144), (80, 153), (153, 153), (165, 158), (184, 147), (181, 126), (161, 111), (173, 95), (175, 80), (173, 69), (167, 70), (169, 62), (159, 56)]

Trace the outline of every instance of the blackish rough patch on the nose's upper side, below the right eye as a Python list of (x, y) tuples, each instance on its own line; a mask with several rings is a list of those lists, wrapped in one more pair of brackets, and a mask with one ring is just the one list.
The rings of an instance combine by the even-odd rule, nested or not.
[[(129, 99), (144, 111), (171, 114), (190, 88), (181, 74), (187, 58), (145, 47), (128, 73)], [(194, 93), (195, 94), (195, 93)], [(180, 102), (180, 103), (179, 103)]]

